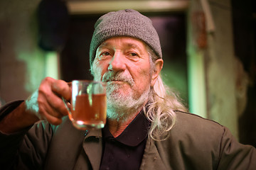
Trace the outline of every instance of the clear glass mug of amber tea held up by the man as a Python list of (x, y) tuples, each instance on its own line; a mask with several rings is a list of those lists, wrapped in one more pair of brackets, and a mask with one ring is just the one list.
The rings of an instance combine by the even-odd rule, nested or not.
[(100, 81), (74, 80), (71, 104), (63, 98), (68, 117), (79, 130), (104, 128), (107, 118), (106, 84)]

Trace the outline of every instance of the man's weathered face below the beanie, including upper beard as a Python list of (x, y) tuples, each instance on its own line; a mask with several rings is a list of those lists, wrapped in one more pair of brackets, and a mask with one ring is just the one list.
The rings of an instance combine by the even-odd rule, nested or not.
[(92, 72), (95, 80), (107, 82), (108, 93), (119, 98), (138, 100), (150, 89), (149, 53), (144, 42), (136, 38), (116, 37), (102, 42)]

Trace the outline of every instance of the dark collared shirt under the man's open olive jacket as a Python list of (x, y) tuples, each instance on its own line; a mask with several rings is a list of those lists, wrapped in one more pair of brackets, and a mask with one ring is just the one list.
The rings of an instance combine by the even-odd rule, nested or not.
[(149, 126), (149, 120), (143, 111), (118, 137), (113, 137), (106, 125), (102, 129), (103, 151), (100, 169), (139, 169)]

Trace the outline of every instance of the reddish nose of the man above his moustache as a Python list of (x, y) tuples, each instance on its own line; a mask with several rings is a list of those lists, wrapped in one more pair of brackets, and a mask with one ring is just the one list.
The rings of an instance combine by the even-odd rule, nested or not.
[(122, 55), (122, 52), (115, 52), (114, 56), (112, 57), (112, 60), (110, 61), (110, 65), (108, 67), (108, 69), (110, 71), (124, 71), (124, 69), (126, 68), (125, 65), (125, 57), (124, 55)]

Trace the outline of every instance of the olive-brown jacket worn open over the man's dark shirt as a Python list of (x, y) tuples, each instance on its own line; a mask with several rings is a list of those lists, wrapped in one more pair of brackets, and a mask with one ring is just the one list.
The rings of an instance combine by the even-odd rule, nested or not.
[[(241, 145), (227, 128), (190, 113), (177, 112), (177, 117), (166, 140), (148, 138), (140, 169), (256, 169), (256, 149)], [(0, 141), (0, 167), (6, 169), (100, 167), (101, 130), (77, 130), (68, 117), (58, 126), (41, 122), (23, 132), (1, 134)]]

